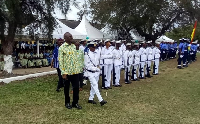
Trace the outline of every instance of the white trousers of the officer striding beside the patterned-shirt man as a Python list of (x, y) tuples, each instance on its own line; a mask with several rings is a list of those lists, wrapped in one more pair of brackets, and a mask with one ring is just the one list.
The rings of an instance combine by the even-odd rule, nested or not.
[(99, 88), (98, 88), (99, 76), (97, 76), (97, 77), (89, 76), (88, 78), (89, 78), (90, 84), (91, 84), (89, 100), (93, 100), (94, 95), (96, 94), (99, 102), (101, 102), (103, 100), (103, 98), (101, 97), (101, 94), (100, 94)]

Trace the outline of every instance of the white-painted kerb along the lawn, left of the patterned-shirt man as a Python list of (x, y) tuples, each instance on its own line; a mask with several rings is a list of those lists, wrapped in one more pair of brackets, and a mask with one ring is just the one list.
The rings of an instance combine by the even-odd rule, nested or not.
[(41, 76), (56, 74), (56, 73), (57, 73), (57, 71), (55, 70), (55, 71), (35, 73), (35, 74), (29, 74), (29, 75), (23, 75), (23, 76), (17, 76), (17, 77), (10, 77), (10, 78), (0, 79), (0, 82), (4, 82), (4, 83), (8, 84), (12, 81), (25, 80), (28, 78), (41, 77)]

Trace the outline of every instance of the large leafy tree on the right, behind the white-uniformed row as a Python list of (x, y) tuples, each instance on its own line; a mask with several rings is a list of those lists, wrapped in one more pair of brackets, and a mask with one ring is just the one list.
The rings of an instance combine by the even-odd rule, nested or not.
[[(192, 24), (198, 18), (198, 0), (89, 0), (93, 19), (118, 33), (136, 30), (146, 40), (155, 40), (174, 27)], [(125, 37), (125, 38), (126, 38)]]

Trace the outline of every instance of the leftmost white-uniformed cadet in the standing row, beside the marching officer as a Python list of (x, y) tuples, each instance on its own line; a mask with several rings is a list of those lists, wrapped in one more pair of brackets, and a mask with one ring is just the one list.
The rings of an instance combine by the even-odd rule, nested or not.
[(111, 71), (113, 68), (113, 57), (112, 57), (113, 49), (110, 48), (110, 40), (107, 39), (105, 41), (105, 46), (103, 47), (101, 51), (101, 57), (100, 59), (103, 61), (103, 70), (104, 75), (102, 73), (102, 78), (105, 79), (105, 81), (102, 81), (102, 89), (111, 89)]

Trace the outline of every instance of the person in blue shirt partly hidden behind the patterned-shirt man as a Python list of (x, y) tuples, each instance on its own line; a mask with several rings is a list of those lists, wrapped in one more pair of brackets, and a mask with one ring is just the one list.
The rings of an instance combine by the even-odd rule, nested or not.
[(58, 80), (58, 85), (57, 85), (57, 89), (56, 89), (57, 92), (60, 91), (60, 88), (64, 87), (63, 78), (61, 75), (61, 70), (59, 69), (59, 61), (58, 61), (58, 49), (62, 44), (63, 44), (63, 40), (57, 41), (57, 46), (53, 50), (53, 57), (51, 60), (51, 68), (56, 68), (56, 70), (58, 72), (59, 80)]

